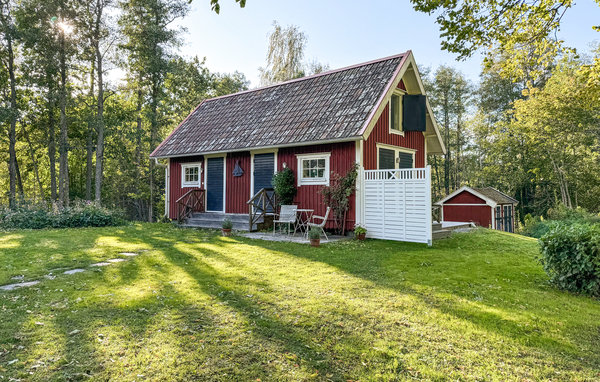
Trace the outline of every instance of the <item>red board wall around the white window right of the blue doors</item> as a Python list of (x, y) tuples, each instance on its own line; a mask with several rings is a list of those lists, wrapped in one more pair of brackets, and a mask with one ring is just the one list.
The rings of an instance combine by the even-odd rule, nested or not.
[[(302, 146), (292, 148), (282, 148), (277, 153), (277, 170), (283, 169), (283, 163), (294, 171), (294, 175), (297, 178), (298, 160), (296, 154), (308, 154), (308, 153), (331, 153), (329, 160), (330, 177), (333, 178), (333, 174), (345, 175), (350, 169), (352, 164), (356, 161), (356, 145), (354, 142), (344, 142), (326, 145), (315, 145), (315, 146)], [(296, 179), (298, 182), (298, 179)], [(296, 183), (297, 184), (297, 183)], [(298, 205), (298, 208), (307, 208), (315, 210), (316, 215), (323, 216), (327, 206), (323, 203), (323, 196), (319, 192), (323, 186), (300, 186), (298, 187), (298, 194), (294, 199), (294, 203)], [(350, 196), (350, 209), (346, 217), (346, 229), (354, 228), (354, 217), (355, 217), (355, 202), (354, 194)], [(329, 213), (329, 220), (327, 228), (335, 228), (332, 213)]]

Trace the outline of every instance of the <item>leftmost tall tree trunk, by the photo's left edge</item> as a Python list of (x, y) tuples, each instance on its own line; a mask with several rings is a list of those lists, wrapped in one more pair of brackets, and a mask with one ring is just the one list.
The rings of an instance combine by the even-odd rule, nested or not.
[[(8, 51), (8, 75), (10, 79), (10, 128), (8, 131), (8, 169), (9, 169), (9, 206), (14, 207), (16, 203), (16, 181), (17, 181), (17, 87), (15, 84), (14, 52), (12, 48), (12, 31), (6, 31), (6, 45)], [(22, 190), (21, 190), (22, 191)]]

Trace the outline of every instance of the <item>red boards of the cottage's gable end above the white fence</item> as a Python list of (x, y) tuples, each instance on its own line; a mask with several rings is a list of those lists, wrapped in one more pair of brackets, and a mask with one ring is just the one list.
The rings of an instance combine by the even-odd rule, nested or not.
[(423, 133), (407, 131), (404, 136), (390, 134), (389, 122), (388, 104), (383, 109), (383, 113), (381, 113), (373, 131), (364, 143), (363, 165), (365, 170), (377, 170), (377, 143), (417, 150), (415, 153), (415, 167), (425, 167), (425, 137)]

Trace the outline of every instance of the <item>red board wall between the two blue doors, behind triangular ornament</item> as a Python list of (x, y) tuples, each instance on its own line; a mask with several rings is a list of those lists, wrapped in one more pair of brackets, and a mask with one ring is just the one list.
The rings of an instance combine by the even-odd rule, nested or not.
[[(242, 176), (233, 176), (235, 163), (244, 171)], [(226, 192), (225, 192), (225, 211), (233, 214), (247, 214), (250, 199), (250, 177), (252, 176), (250, 167), (250, 152), (229, 153), (227, 155), (226, 166)]]

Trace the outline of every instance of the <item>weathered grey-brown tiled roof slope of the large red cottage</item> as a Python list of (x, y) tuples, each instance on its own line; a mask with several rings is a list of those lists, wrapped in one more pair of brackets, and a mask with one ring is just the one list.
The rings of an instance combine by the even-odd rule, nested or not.
[(205, 100), (150, 156), (356, 138), (407, 54)]

